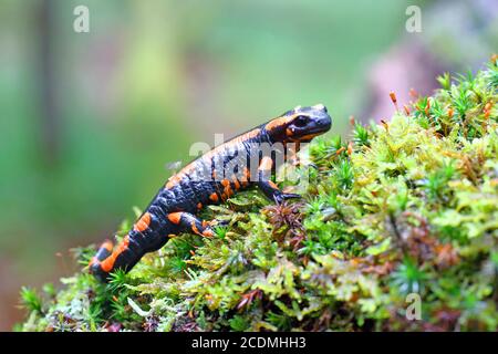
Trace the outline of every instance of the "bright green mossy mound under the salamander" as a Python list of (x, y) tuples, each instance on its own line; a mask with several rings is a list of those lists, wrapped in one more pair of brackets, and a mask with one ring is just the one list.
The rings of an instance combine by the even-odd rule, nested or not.
[(204, 211), (229, 221), (216, 237), (174, 238), (108, 284), (83, 269), (59, 291), (23, 289), (17, 329), (496, 331), (496, 59), (439, 82), (351, 142), (312, 144), (297, 169), (310, 183), (288, 186), (301, 201), (249, 190)]

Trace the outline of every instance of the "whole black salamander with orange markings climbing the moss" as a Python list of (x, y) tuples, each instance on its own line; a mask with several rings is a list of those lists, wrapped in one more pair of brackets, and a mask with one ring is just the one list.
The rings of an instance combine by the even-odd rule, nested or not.
[(158, 250), (173, 236), (184, 231), (214, 236), (215, 221), (203, 221), (196, 212), (242, 188), (257, 185), (276, 202), (299, 197), (281, 191), (271, 176), (287, 159), (288, 145), (294, 145), (295, 153), (301, 143), (328, 132), (331, 124), (324, 105), (298, 106), (218, 145), (172, 176), (117, 247), (110, 240), (100, 247), (90, 271), (105, 281), (116, 269), (129, 271), (145, 253)]

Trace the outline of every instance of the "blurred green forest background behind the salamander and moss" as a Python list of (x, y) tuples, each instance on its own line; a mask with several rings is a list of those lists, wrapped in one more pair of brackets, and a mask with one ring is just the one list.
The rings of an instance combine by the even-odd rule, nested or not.
[[(367, 119), (378, 100), (390, 104), (378, 82), (395, 88), (398, 76), (378, 63), (395, 45), (405, 54), (423, 48), (416, 55), (432, 69), (473, 67), (491, 54), (496, 17), (464, 31), (484, 43), (469, 53), (475, 40), (432, 27), (437, 18), (407, 33), (414, 3), (423, 21), (437, 10), (396, 0), (3, 0), (0, 330), (22, 314), (21, 285), (70, 274), (68, 250), (133, 218), (132, 207), (146, 206), (170, 175), (168, 164), (190, 159), (191, 143), (212, 145), (215, 133), (229, 137), (317, 103), (344, 133), (350, 115)], [(80, 4), (90, 33), (73, 30)]]

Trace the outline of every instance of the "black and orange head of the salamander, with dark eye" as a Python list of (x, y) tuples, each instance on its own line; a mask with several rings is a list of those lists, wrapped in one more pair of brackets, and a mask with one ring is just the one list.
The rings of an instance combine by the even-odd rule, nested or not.
[(330, 129), (332, 118), (323, 104), (310, 107), (298, 106), (264, 125), (273, 142), (308, 143)]

